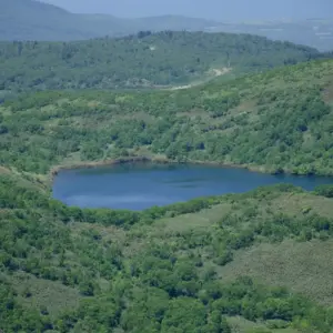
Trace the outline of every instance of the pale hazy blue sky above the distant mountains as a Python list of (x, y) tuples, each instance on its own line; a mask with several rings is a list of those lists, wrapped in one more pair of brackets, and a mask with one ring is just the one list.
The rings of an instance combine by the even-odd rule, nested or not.
[(44, 0), (73, 12), (119, 17), (184, 14), (215, 20), (333, 17), (333, 0)]

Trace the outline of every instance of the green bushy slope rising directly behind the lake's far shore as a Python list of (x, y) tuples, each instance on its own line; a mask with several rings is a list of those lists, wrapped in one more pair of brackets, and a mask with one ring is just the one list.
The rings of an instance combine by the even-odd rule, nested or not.
[(46, 173), (132, 154), (332, 174), (332, 87), (327, 60), (188, 90), (22, 95), (0, 107), (0, 161)]

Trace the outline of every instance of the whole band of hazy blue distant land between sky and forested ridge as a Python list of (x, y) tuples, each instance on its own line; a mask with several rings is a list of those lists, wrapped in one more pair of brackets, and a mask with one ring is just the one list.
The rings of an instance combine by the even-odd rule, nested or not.
[[(62, 2), (54, 2), (61, 3)], [(118, 18), (111, 14), (71, 13), (33, 0), (0, 0), (0, 40), (71, 41), (104, 36), (125, 36), (142, 30), (190, 30), (253, 33), (317, 48), (333, 49), (333, 19), (271, 20), (221, 23), (221, 20), (195, 19), (180, 14), (145, 18)], [(198, 16), (201, 13), (198, 12)], [(203, 13), (202, 13), (203, 14)], [(240, 21), (240, 19), (239, 19)]]

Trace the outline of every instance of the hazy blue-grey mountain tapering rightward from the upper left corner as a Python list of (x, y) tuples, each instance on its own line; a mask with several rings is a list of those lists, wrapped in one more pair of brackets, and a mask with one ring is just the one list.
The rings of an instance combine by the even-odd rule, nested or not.
[(124, 36), (140, 30), (204, 30), (216, 24), (204, 19), (163, 16), (120, 19), (107, 14), (74, 14), (33, 0), (0, 0), (0, 40), (84, 40)]

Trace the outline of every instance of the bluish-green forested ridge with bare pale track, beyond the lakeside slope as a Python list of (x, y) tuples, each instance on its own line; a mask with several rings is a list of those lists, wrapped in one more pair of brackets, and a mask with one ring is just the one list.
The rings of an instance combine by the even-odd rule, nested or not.
[(262, 37), (140, 32), (79, 42), (1, 42), (0, 92), (183, 84), (225, 69), (258, 72), (324, 57)]

